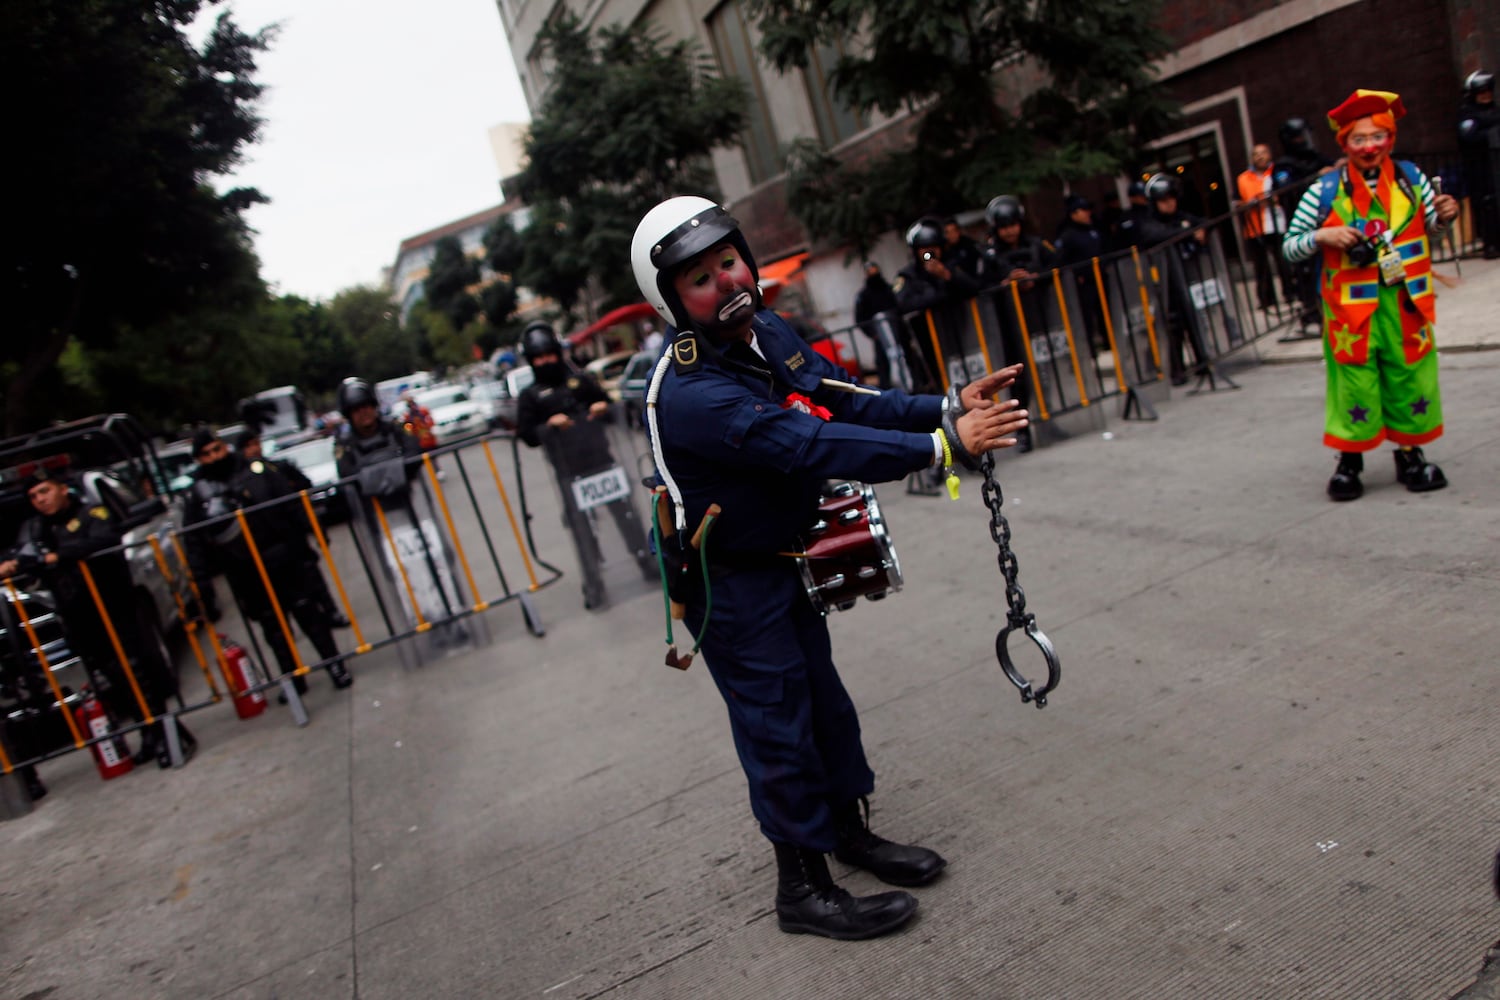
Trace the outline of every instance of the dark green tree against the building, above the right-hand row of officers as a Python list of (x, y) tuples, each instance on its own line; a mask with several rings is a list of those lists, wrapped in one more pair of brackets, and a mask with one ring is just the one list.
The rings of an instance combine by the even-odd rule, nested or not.
[(1170, 49), (1156, 0), (744, 0), (778, 69), (858, 37), (837, 99), (915, 115), (912, 141), (844, 163), (790, 150), (788, 202), (813, 237), (868, 247), (924, 211), (1120, 169), (1173, 106), (1150, 64)]

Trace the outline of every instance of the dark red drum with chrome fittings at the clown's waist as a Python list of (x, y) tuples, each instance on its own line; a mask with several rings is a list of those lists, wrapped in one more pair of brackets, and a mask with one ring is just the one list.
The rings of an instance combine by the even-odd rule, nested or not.
[(846, 612), (861, 597), (879, 601), (902, 589), (902, 562), (880, 517), (874, 487), (838, 483), (818, 504), (818, 523), (796, 561), (813, 607)]

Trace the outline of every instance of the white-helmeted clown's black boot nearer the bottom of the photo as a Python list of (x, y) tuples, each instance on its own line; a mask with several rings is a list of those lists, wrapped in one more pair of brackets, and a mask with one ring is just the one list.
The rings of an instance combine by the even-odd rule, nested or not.
[(894, 931), (916, 913), (910, 892), (849, 895), (834, 885), (822, 852), (774, 844), (776, 919), (788, 934), (858, 942)]

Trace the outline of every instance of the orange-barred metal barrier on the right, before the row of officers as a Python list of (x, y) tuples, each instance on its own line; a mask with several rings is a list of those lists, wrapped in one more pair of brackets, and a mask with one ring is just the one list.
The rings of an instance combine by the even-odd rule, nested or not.
[[(1272, 192), (1292, 205), (1316, 181)], [(1122, 417), (1154, 418), (1149, 387), (1194, 382), (1188, 391), (1233, 388), (1221, 361), (1278, 334), (1322, 336), (1317, 261), (1266, 261), (1274, 298), (1262, 306), (1245, 246), (1242, 205), (1197, 229), (1150, 247), (1128, 247), (1053, 268), (1036, 279), (1005, 280), (976, 297), (906, 316), (882, 313), (831, 336), (849, 357), (885, 346), (891, 384), (945, 391), (998, 367), (1023, 361), (1017, 390), (1041, 424), (1101, 402), (1122, 399)], [(1290, 222), (1290, 211), (1287, 213)], [(1202, 231), (1202, 241), (1196, 232)], [(1434, 261), (1458, 256), (1450, 229), (1432, 246)], [(1302, 313), (1317, 322), (1300, 324)], [(867, 370), (872, 364), (862, 364)]]

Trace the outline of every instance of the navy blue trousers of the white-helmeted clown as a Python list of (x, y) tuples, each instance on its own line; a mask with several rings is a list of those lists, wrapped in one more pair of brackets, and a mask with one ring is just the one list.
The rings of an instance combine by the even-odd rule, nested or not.
[(704, 661), (729, 708), (750, 808), (774, 843), (831, 852), (831, 807), (874, 790), (860, 717), (834, 669), (828, 621), (813, 610), (790, 559), (714, 570), (712, 612), (687, 606)]

